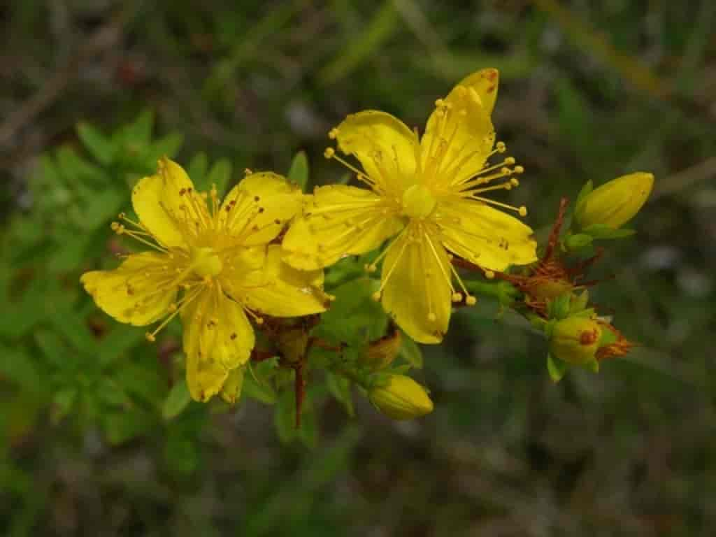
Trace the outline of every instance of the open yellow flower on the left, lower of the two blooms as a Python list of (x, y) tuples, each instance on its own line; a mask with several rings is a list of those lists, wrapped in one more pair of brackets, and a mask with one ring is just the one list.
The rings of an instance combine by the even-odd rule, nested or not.
[[(180, 165), (162, 159), (158, 173), (132, 190), (132, 205), (139, 221), (120, 214), (112, 229), (152, 251), (132, 253), (112, 271), (87, 272), (81, 281), (117, 321), (160, 321), (147, 332), (150, 341), (180, 315), (195, 400), (216, 395), (248, 361), (255, 341), (249, 317), (261, 324), (262, 314), (325, 310), (322, 271), (296, 271), (281, 261), (279, 246), (268, 246), (301, 206), (300, 190), (280, 175), (248, 175), (220, 203), (216, 188), (196, 192)], [(229, 378), (235, 395), (237, 375)]]

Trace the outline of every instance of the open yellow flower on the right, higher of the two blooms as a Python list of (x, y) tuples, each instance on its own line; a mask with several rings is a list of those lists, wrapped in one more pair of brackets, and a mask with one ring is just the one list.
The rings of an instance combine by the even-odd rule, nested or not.
[[(437, 343), (448, 329), (451, 301), (475, 304), (453, 269), (457, 255), (490, 271), (536, 261), (532, 230), (499, 209), (526, 215), (483, 197), (518, 185), (523, 168), (513, 158), (487, 165), (505, 144), (495, 145), (490, 114), (498, 72), (483, 69), (435, 102), (425, 134), (418, 137), (400, 120), (369, 110), (349, 115), (329, 133), (362, 170), (336, 158), (370, 190), (332, 185), (314, 190), (306, 216), (284, 238), (284, 259), (299, 269), (319, 269), (344, 256), (390, 246), (382, 261), (375, 299), (410, 337)], [(457, 287), (453, 286), (453, 279)]]

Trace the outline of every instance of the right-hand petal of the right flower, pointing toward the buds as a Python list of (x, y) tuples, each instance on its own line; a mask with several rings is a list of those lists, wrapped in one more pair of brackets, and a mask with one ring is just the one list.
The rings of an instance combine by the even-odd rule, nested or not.
[(484, 269), (537, 261), (532, 228), (517, 218), (473, 200), (441, 200), (437, 218), (445, 248)]

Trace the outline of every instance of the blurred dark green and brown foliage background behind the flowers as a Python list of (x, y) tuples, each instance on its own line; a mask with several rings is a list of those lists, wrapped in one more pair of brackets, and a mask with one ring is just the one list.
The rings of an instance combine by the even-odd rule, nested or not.
[[(715, 27), (711, 0), (2, 4), (0, 533), (711, 535)], [(481, 67), (541, 233), (587, 179), (656, 175), (594, 293), (642, 347), (553, 385), (543, 339), (486, 300), (424, 349), (422, 420), (328, 401), (309, 448), (259, 402), (167, 419), (178, 332), (147, 344), (78, 284), (115, 263), (132, 180), (164, 153), (237, 180), (298, 150), (337, 180), (344, 115), (422, 126)]]

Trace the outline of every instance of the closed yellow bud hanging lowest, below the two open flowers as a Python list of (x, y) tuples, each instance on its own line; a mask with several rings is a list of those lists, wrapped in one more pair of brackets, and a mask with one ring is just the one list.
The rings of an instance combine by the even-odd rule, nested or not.
[(432, 412), (432, 401), (425, 388), (410, 377), (393, 374), (387, 384), (368, 392), (370, 402), (393, 420), (411, 420)]

